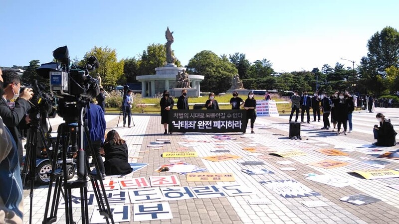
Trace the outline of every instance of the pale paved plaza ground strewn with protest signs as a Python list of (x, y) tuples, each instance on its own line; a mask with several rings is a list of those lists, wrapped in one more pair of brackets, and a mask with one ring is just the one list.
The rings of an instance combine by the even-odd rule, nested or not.
[[(376, 112), (383, 112), (391, 118), (394, 127), (399, 132), (399, 109), (377, 108)], [(174, 187), (190, 187), (193, 192), (196, 187), (216, 186), (240, 186), (250, 195), (214, 197), (214, 198), (191, 198), (185, 200), (170, 200), (164, 203), (169, 204), (173, 219), (133, 221), (134, 204), (127, 203), (130, 210), (130, 222), (125, 223), (151, 223), (151, 224), (365, 224), (365, 223), (399, 223), (399, 187), (397, 189), (389, 186), (399, 185), (399, 178), (384, 178), (367, 180), (359, 175), (350, 174), (355, 170), (380, 169), (376, 164), (367, 164), (367, 160), (382, 160), (389, 163), (384, 164), (384, 169), (399, 169), (399, 161), (393, 159), (376, 158), (376, 153), (383, 151), (395, 151), (399, 146), (370, 148), (373, 139), (372, 128), (377, 124), (376, 113), (357, 111), (353, 114), (353, 132), (348, 135), (338, 135), (331, 130), (321, 130), (323, 122), (302, 123), (302, 140), (288, 139), (289, 117), (280, 114), (279, 117), (257, 117), (254, 134), (249, 133), (225, 133), (232, 137), (231, 140), (217, 140), (212, 133), (173, 133), (164, 135), (163, 126), (160, 124), (160, 115), (137, 115), (134, 114), (135, 126), (131, 128), (122, 127), (122, 117), (119, 127), (117, 126), (118, 115), (106, 115), (107, 131), (116, 129), (121, 137), (127, 141), (129, 146), (129, 157), (132, 163), (148, 163), (148, 165), (136, 172), (124, 177), (106, 177), (104, 183), (110, 180), (120, 181), (151, 176), (176, 175), (180, 184)], [(300, 118), (298, 119), (300, 120)], [(305, 118), (306, 120), (306, 118)], [(313, 116), (311, 116), (313, 120)], [(61, 118), (52, 119), (53, 129), (62, 122)], [(348, 127), (349, 130), (349, 127)], [(399, 135), (397, 136), (399, 137)], [(147, 147), (150, 142), (156, 139), (167, 138), (170, 143), (163, 144), (162, 149)], [(186, 143), (186, 144), (185, 144)], [(187, 143), (193, 143), (187, 145)], [(186, 146), (185, 146), (186, 145)], [(346, 156), (329, 156), (318, 152), (320, 149), (336, 149), (347, 153)], [(186, 150), (183, 150), (186, 148)], [(255, 148), (255, 152), (243, 150), (243, 148)], [(256, 149), (259, 149), (256, 152)], [(373, 150), (383, 151), (373, 153)], [(216, 150), (229, 150), (229, 152), (215, 152)], [(282, 158), (269, 155), (272, 150), (287, 152), (301, 150), (306, 153), (303, 156)], [(144, 152), (143, 152), (144, 151)], [(163, 158), (164, 152), (197, 152), (198, 157)], [(376, 150), (375, 150), (376, 151)], [(252, 154), (251, 153), (260, 153)], [(219, 154), (231, 154), (241, 158), (213, 162), (201, 157), (215, 156)], [(185, 163), (205, 168), (209, 173), (232, 173), (235, 182), (188, 182), (187, 175), (180, 175), (174, 172), (157, 172), (159, 166), (171, 164), (171, 160), (182, 160)], [(345, 166), (326, 169), (308, 165), (321, 160), (334, 160), (347, 163)], [(243, 165), (241, 162), (261, 161), (263, 165)], [(279, 163), (280, 162), (280, 163)], [(375, 167), (371, 166), (374, 165)], [(380, 164), (377, 164), (380, 165)], [(381, 165), (380, 165), (381, 166)], [(287, 168), (290, 167), (290, 168)], [(377, 166), (379, 167), (379, 166)], [(283, 168), (283, 170), (281, 169)], [(294, 168), (295, 170), (293, 170)], [(248, 175), (241, 170), (266, 169), (273, 174)], [(334, 187), (328, 184), (319, 183), (306, 179), (308, 176), (328, 174), (339, 177), (348, 182), (350, 186)], [(277, 181), (292, 180), (303, 186), (303, 192), (290, 192), (294, 197), (283, 197), (276, 192)], [(287, 182), (288, 183), (288, 182)], [(287, 184), (286, 183), (286, 184)], [(272, 186), (274, 185), (274, 187)], [(279, 187), (289, 191), (289, 184)], [(306, 190), (307, 189), (307, 190)], [(227, 193), (227, 192), (226, 192)], [(308, 197), (295, 197), (300, 194)], [(381, 201), (366, 204), (354, 205), (340, 199), (353, 195), (367, 195)], [(221, 196), (220, 194), (219, 196)], [(44, 216), (45, 199), (47, 197), (47, 186), (40, 186), (34, 190), (33, 197), (33, 218), (32, 223), (41, 223)], [(127, 196), (126, 196), (127, 197)], [(127, 197), (129, 198), (129, 197)], [(24, 222), (29, 222), (29, 189), (24, 190)], [(129, 202), (129, 200), (128, 200)], [(260, 204), (250, 205), (249, 202)], [(312, 203), (313, 202), (313, 203)], [(161, 202), (158, 202), (161, 203)], [(307, 204), (309, 203), (309, 204)], [(355, 201), (355, 204), (359, 201)], [(360, 202), (361, 203), (361, 202)], [(360, 204), (359, 203), (359, 204)], [(317, 206), (317, 205), (319, 206)], [(312, 205), (316, 206), (313, 207)], [(81, 222), (80, 208), (73, 208), (74, 220)], [(90, 207), (89, 217), (95, 207)], [(57, 223), (65, 223), (64, 209), (58, 210)], [(95, 217), (96, 215), (94, 215)], [(151, 217), (151, 216), (150, 216)], [(158, 217), (162, 217), (159, 215)], [(98, 218), (98, 217), (97, 217)], [(97, 219), (98, 220), (98, 219)]]

